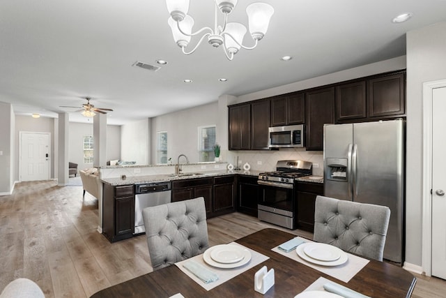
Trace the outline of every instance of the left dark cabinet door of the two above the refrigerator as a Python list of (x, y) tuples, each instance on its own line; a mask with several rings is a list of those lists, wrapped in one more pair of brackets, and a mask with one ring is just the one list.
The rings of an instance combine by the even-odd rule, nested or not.
[(336, 121), (367, 117), (365, 81), (336, 87)]

